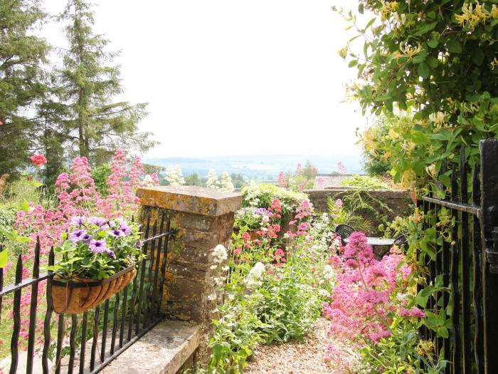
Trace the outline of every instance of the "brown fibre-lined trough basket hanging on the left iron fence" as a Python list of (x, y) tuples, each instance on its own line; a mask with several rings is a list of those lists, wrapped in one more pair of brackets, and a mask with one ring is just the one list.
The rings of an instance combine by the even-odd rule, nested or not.
[(124, 289), (136, 275), (137, 269), (134, 265), (102, 281), (65, 280), (55, 275), (51, 279), (53, 311), (59, 314), (76, 314), (95, 308)]

